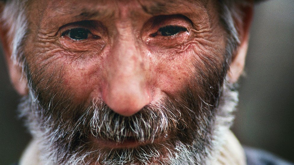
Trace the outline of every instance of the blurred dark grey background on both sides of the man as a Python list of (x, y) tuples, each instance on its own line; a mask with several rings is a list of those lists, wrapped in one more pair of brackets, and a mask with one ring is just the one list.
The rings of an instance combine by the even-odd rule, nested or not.
[[(258, 4), (251, 28), (246, 75), (233, 131), (242, 144), (294, 162), (294, 1)], [(0, 165), (16, 162), (30, 136), (17, 119), (19, 96), (0, 54)]]

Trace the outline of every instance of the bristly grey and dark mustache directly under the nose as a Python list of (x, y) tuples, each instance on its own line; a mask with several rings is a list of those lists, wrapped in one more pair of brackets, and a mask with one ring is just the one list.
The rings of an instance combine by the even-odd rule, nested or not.
[(167, 99), (146, 105), (129, 117), (115, 113), (104, 102), (96, 99), (78, 123), (86, 121), (88, 134), (96, 139), (117, 143), (125, 140), (153, 142), (161, 137), (166, 138), (168, 134), (175, 134), (179, 125), (187, 125), (180, 116), (179, 108)]

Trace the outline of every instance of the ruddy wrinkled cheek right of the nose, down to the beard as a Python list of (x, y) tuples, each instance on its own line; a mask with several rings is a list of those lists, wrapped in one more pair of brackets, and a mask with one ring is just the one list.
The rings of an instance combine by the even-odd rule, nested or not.
[(191, 86), (201, 92), (203, 87), (197, 83), (197, 78), (202, 73), (209, 76), (210, 69), (220, 67), (224, 57), (224, 45), (211, 46), (207, 43), (211, 42), (195, 39), (185, 45), (153, 52), (157, 54), (154, 60), (156, 65), (153, 85), (158, 86), (169, 97), (176, 97)]

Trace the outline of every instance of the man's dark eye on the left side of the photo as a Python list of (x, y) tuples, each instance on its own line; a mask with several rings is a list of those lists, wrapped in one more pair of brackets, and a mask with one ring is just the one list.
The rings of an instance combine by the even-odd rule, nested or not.
[(62, 36), (67, 36), (73, 40), (84, 40), (89, 38), (91, 32), (84, 28), (70, 29), (62, 33)]

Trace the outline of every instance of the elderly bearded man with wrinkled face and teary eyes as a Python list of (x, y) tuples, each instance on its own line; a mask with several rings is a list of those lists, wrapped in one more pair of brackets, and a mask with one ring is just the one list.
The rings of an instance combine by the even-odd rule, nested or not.
[(33, 136), (20, 164), (246, 164), (229, 128), (253, 5), (3, 2), (2, 44)]

